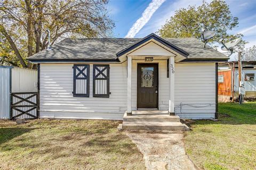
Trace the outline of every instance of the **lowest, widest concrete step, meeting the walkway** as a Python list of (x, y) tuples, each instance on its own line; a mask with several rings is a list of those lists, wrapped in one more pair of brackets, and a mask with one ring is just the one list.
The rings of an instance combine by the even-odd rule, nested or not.
[(123, 122), (123, 130), (189, 130), (180, 122)]

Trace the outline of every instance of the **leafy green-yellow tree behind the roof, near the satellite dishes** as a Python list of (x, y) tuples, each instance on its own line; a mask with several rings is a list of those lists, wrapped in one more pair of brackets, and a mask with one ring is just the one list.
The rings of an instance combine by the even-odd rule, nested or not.
[[(195, 37), (200, 39), (202, 30), (215, 31), (216, 35), (209, 42), (223, 39), (224, 42), (242, 37), (242, 34), (229, 35), (228, 30), (238, 27), (238, 18), (233, 17), (229, 6), (223, 0), (214, 0), (210, 4), (203, 1), (198, 6), (188, 6), (175, 11), (174, 16), (158, 30), (164, 38)], [(239, 43), (243, 48), (245, 41)]]

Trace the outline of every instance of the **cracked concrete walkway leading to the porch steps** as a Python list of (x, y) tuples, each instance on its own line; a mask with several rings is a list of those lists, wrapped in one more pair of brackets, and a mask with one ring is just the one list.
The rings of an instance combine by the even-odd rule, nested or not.
[(196, 169), (186, 155), (182, 132), (171, 131), (126, 131), (137, 145), (148, 170)]

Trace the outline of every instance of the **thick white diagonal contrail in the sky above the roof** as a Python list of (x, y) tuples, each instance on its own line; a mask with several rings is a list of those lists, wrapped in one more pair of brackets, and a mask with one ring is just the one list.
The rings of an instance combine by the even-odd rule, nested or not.
[(141, 17), (132, 25), (125, 38), (133, 38), (165, 1), (166, 0), (152, 0), (146, 10), (143, 11)]

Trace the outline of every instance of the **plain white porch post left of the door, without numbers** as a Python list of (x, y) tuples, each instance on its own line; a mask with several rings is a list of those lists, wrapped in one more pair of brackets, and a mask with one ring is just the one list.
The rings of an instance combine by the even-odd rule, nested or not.
[(132, 56), (127, 56), (127, 114), (132, 114)]

